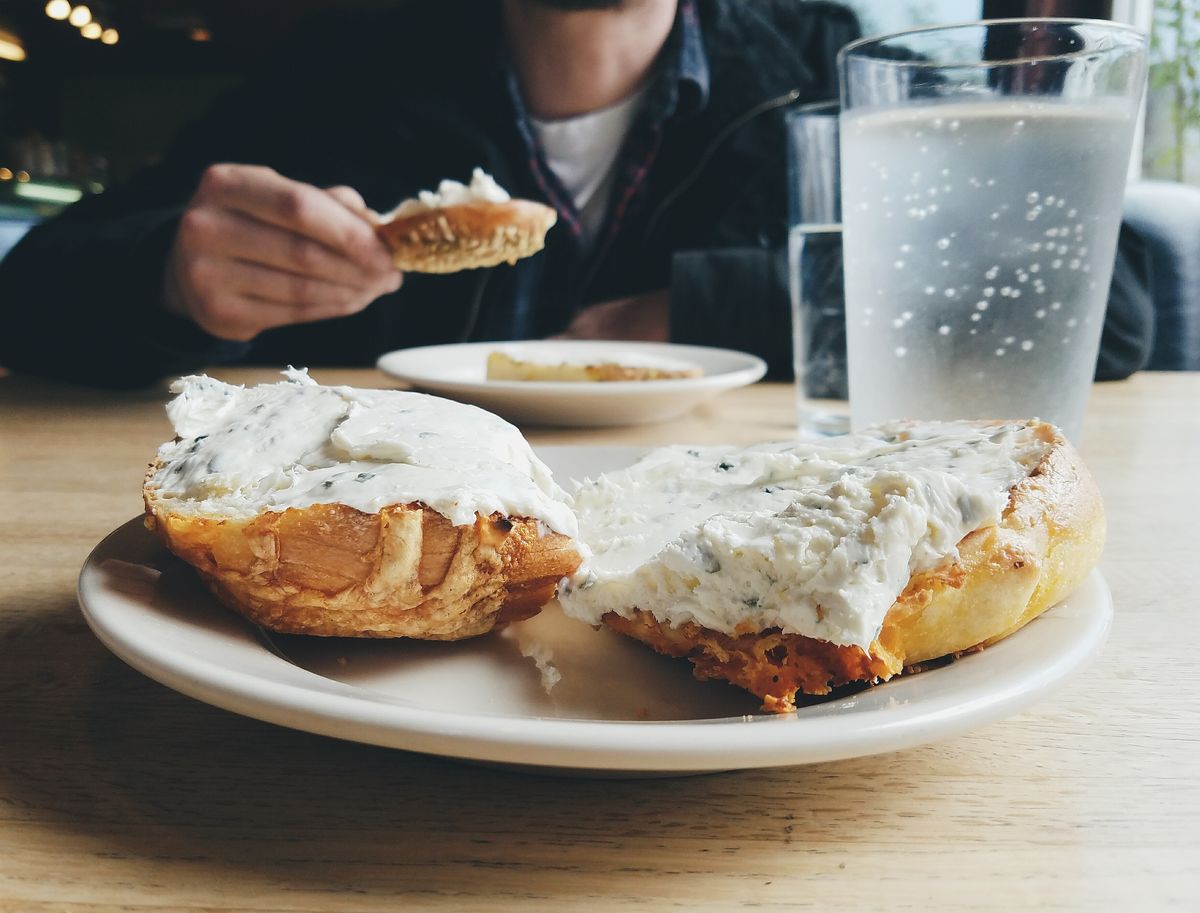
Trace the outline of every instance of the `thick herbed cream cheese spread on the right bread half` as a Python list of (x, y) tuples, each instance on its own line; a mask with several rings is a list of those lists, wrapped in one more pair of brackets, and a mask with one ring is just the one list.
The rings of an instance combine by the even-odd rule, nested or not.
[(1031, 425), (888, 425), (814, 444), (666, 448), (575, 493), (588, 573), (566, 614), (869, 648), (912, 573), (995, 524), (1045, 455)]

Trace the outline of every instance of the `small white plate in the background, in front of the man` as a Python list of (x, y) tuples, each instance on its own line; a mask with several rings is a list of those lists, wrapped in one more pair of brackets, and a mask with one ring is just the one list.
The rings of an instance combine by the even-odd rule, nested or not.
[[(538, 362), (684, 361), (703, 371), (702, 377), (677, 380), (614, 380), (570, 383), (545, 380), (488, 380), (487, 355), (503, 350)], [(661, 342), (589, 342), (542, 340), (533, 342), (464, 342), (425, 346), (382, 355), (379, 370), (413, 386), (452, 400), (481, 406), (505, 419), (528, 425), (640, 425), (674, 419), (700, 402), (726, 390), (752, 384), (767, 373), (767, 364), (744, 352), (707, 346)]]

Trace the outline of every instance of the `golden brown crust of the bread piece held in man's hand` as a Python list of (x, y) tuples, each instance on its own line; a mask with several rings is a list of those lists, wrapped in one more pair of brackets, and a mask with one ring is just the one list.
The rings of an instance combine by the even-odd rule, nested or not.
[(557, 218), (550, 206), (527, 199), (463, 203), (392, 218), (376, 233), (400, 270), (457, 272), (538, 253)]

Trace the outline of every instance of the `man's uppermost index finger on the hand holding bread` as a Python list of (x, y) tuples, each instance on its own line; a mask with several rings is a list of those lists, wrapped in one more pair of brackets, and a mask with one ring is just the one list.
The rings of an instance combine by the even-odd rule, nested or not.
[(390, 256), (367, 220), (317, 187), (260, 166), (217, 164), (199, 193), (226, 206), (319, 241), (364, 266), (383, 270)]

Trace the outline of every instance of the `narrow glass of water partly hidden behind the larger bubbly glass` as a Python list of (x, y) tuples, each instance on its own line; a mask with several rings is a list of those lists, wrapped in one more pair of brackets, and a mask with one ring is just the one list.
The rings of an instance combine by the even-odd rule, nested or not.
[(800, 437), (840, 434), (850, 427), (846, 415), (817, 402), (847, 396), (839, 110), (839, 102), (829, 101), (787, 114), (787, 266)]

